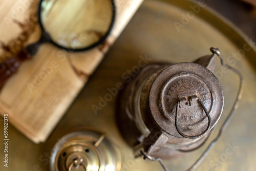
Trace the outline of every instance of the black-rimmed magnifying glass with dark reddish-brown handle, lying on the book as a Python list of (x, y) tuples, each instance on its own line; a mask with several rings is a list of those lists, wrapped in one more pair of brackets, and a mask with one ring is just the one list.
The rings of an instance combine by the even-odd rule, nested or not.
[(40, 39), (0, 65), (0, 88), (16, 72), (20, 62), (31, 58), (43, 43), (70, 51), (85, 51), (102, 44), (115, 21), (114, 0), (41, 0), (38, 23)]

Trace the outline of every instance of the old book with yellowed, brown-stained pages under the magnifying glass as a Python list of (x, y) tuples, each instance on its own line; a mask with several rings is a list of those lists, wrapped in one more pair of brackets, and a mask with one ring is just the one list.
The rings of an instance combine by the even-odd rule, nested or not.
[[(0, 92), (1, 115), (8, 113), (12, 125), (33, 142), (46, 141), (142, 1), (115, 1), (116, 20), (104, 46), (70, 53), (51, 44), (41, 45), (33, 58), (23, 62), (5, 83)], [(21, 32), (13, 21), (22, 23), (28, 17), (26, 11), (31, 2), (8, 0), (1, 3), (0, 39), (3, 42)], [(28, 44), (35, 42), (39, 34), (38, 27)]]

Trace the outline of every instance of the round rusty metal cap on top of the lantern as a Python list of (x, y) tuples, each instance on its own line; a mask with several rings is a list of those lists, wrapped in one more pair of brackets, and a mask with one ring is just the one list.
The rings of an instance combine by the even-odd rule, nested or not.
[(160, 129), (175, 137), (198, 138), (218, 122), (224, 97), (214, 74), (197, 63), (184, 62), (155, 78), (149, 105)]

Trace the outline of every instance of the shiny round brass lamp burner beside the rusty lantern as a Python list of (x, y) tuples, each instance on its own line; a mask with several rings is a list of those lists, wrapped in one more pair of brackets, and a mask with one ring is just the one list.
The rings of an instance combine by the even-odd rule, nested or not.
[(54, 146), (51, 171), (116, 171), (121, 161), (118, 149), (104, 134), (83, 130), (62, 137)]

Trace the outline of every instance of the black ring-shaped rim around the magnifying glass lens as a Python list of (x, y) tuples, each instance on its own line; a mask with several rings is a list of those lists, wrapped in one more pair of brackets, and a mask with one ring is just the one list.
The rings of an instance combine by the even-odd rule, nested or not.
[[(41, 28), (41, 31), (42, 31), (42, 35), (41, 35), (41, 38), (38, 42), (39, 45), (43, 42), (50, 42), (51, 44), (53, 44), (54, 46), (60, 48), (60, 49), (63, 49), (63, 50), (66, 50), (66, 51), (69, 51), (69, 52), (81, 52), (81, 51), (87, 51), (87, 50), (90, 50), (90, 49), (93, 49), (97, 46), (99, 46), (100, 44), (102, 44), (105, 39), (110, 35), (112, 29), (113, 29), (113, 26), (114, 26), (114, 23), (115, 23), (115, 19), (116, 19), (116, 6), (115, 6), (115, 2), (114, 0), (109, 0), (111, 2), (111, 5), (112, 5), (112, 20), (111, 20), (111, 24), (109, 26), (109, 30), (104, 34), (104, 36), (102, 36), (97, 42), (95, 42), (94, 44), (88, 46), (88, 47), (85, 47), (85, 48), (67, 48), (67, 47), (64, 47), (64, 46), (61, 46), (59, 45), (57, 42), (55, 42), (50, 34), (45, 30), (44, 28), (44, 24), (42, 24), (42, 21), (41, 21), (41, 5), (42, 5), (42, 2), (44, 2), (46, 0), (40, 0), (39, 2), (39, 6), (38, 6), (38, 10), (37, 10), (37, 17), (38, 17), (38, 24)], [(86, 22), (86, 21), (85, 21)], [(48, 36), (48, 37), (44, 37), (44, 36)], [(31, 54), (34, 54), (33, 52), (31, 52)]]

